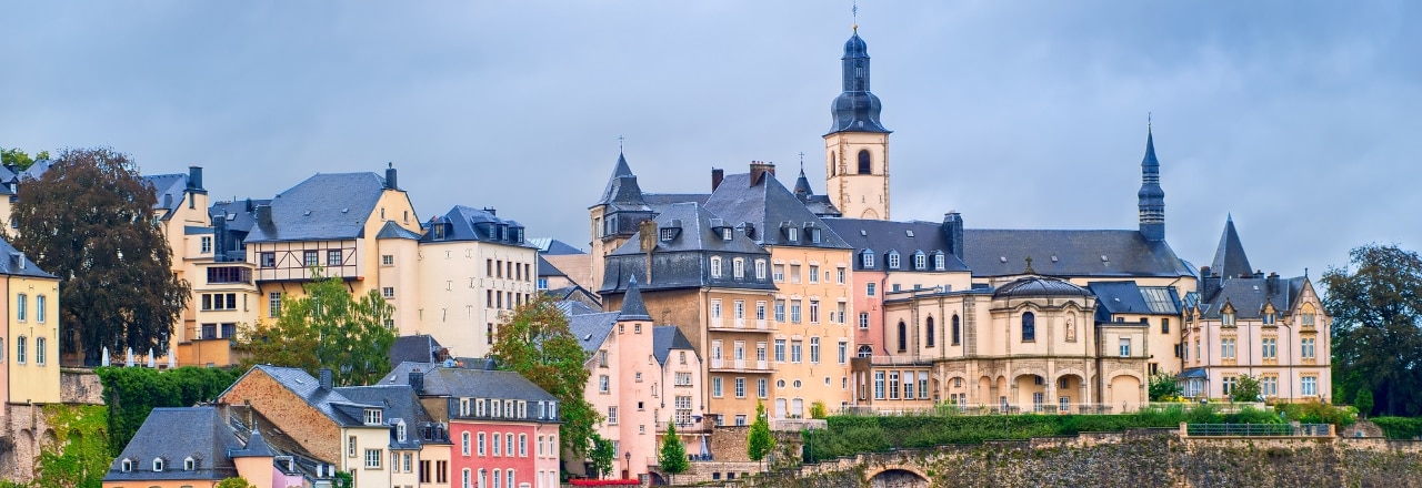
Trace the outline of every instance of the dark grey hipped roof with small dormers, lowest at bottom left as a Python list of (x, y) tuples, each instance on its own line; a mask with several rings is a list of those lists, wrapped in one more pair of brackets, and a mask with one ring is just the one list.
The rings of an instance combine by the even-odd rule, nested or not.
[[(242, 450), (228, 420), (218, 407), (158, 407), (148, 413), (124, 453), (108, 467), (104, 481), (223, 479), (237, 475), (228, 457)], [(183, 461), (198, 461), (195, 471), (183, 471)], [(154, 471), (154, 460), (164, 460), (164, 471)], [(132, 471), (122, 471), (131, 460)]]

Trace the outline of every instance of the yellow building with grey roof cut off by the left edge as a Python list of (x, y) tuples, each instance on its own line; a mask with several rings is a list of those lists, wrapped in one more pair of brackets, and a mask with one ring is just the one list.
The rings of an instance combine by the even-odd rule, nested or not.
[(0, 404), (60, 403), (60, 279), (0, 240)]

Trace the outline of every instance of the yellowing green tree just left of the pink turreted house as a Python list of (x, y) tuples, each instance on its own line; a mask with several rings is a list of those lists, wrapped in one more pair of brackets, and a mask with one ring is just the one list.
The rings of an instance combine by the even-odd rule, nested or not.
[(590, 375), (583, 367), (587, 353), (567, 329), (567, 318), (553, 299), (536, 294), (532, 301), (519, 305), (499, 323), (489, 356), (499, 363), (499, 369), (518, 372), (557, 397), (563, 417), (557, 428), (562, 447), (579, 455), (586, 453), (593, 426), (602, 417), (583, 399)]

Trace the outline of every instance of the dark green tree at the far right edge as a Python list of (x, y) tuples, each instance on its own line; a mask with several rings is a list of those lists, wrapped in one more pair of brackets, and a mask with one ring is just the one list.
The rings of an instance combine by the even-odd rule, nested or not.
[(1396, 245), (1358, 247), (1320, 284), (1332, 316), (1334, 397), (1369, 390), (1378, 414), (1422, 414), (1422, 257)]

